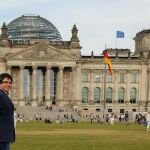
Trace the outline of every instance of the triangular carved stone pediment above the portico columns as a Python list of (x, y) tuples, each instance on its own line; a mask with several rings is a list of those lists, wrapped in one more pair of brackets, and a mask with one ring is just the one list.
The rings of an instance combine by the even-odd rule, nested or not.
[(36, 44), (25, 50), (6, 56), (6, 59), (13, 60), (67, 60), (75, 61), (78, 58), (63, 50), (56, 49), (46, 44)]

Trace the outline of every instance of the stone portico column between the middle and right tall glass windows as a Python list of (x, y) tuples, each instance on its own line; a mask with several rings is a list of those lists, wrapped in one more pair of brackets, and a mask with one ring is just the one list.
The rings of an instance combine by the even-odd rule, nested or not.
[(45, 101), (46, 101), (46, 106), (51, 105), (50, 97), (51, 97), (51, 66), (46, 66), (46, 73), (45, 73)]

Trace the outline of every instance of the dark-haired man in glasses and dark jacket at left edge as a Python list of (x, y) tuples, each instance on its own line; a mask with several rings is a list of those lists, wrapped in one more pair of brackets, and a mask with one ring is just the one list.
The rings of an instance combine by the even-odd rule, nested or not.
[(10, 143), (15, 141), (14, 105), (8, 96), (12, 77), (0, 74), (0, 150), (10, 150)]

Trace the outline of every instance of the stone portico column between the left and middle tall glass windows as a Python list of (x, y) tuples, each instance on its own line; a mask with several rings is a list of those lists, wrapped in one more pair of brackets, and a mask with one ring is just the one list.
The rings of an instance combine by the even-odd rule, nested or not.
[(32, 106), (37, 106), (37, 94), (36, 94), (36, 74), (37, 66), (32, 66)]

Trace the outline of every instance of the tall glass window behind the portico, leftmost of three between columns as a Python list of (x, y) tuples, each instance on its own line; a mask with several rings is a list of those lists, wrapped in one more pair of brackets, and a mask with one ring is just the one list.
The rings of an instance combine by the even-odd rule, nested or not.
[(31, 77), (30, 77), (30, 71), (29, 69), (24, 69), (23, 72), (23, 78), (24, 78), (24, 83), (23, 83), (23, 93), (25, 98), (30, 98), (30, 88), (31, 88)]

